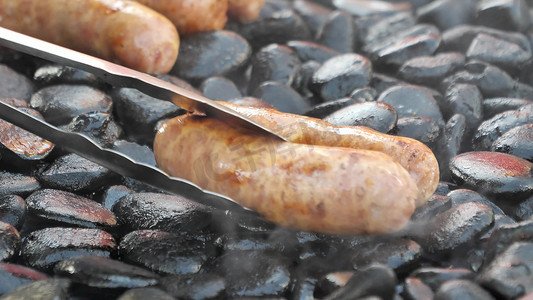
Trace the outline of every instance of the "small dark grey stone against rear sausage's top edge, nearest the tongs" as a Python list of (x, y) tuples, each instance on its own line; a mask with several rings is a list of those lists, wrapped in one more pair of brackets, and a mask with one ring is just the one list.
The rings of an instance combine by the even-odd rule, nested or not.
[(275, 81), (263, 82), (252, 93), (252, 96), (269, 103), (276, 110), (286, 113), (303, 114), (311, 106), (290, 86)]

